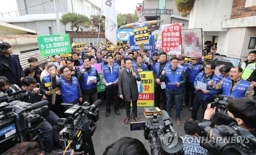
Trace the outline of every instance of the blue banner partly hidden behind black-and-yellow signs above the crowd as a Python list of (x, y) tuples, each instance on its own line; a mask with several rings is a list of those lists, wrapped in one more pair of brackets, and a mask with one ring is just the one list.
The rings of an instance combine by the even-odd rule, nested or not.
[[(150, 42), (148, 44), (145, 44), (144, 49), (153, 51), (155, 35), (148, 35), (148, 37), (149, 37)], [(139, 51), (140, 50), (140, 46), (135, 45), (134, 35), (130, 36), (130, 50), (131, 51)]]

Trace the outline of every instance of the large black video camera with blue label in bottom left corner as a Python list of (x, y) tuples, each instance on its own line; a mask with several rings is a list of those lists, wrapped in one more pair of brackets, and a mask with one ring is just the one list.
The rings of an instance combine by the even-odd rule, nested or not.
[[(18, 100), (0, 104), (0, 154), (7, 153), (20, 142), (32, 141), (30, 134), (41, 127), (41, 116), (49, 115), (47, 105), (46, 100), (33, 104)], [(32, 139), (28, 139), (29, 136)]]

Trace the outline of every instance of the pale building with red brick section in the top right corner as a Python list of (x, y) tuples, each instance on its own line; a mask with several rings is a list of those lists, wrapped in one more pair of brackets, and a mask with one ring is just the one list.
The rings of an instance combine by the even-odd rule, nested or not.
[(256, 2), (196, 0), (188, 28), (202, 28), (203, 40), (218, 43), (218, 53), (243, 62), (249, 51), (256, 50)]

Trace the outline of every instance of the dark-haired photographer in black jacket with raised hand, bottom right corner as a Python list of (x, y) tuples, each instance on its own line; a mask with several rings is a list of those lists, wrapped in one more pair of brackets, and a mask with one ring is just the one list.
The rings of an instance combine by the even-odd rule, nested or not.
[[(210, 104), (199, 123), (201, 146), (211, 154), (254, 154), (256, 152), (256, 101), (250, 98), (232, 99), (226, 106), (228, 116), (216, 113)], [(215, 114), (216, 113), (216, 114)], [(216, 127), (211, 127), (212, 122)]]

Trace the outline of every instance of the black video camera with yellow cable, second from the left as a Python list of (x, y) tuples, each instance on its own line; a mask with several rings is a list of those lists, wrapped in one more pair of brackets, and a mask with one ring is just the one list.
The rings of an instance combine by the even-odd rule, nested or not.
[[(96, 130), (96, 124), (100, 118), (99, 109), (101, 100), (97, 100), (90, 105), (84, 102), (82, 105), (72, 105), (66, 110), (64, 115), (68, 118), (60, 118), (59, 125), (65, 125), (59, 132), (60, 145), (63, 149), (71, 147), (76, 154), (95, 154), (91, 136)], [(62, 103), (61, 105), (70, 106)]]

